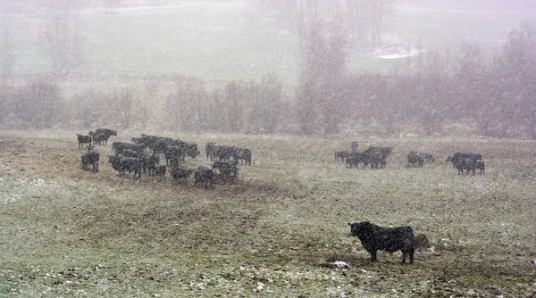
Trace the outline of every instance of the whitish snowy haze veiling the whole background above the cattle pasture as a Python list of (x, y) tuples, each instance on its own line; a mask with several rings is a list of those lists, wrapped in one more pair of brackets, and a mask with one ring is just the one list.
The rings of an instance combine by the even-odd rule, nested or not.
[(2, 1), (0, 128), (536, 137), (533, 1)]

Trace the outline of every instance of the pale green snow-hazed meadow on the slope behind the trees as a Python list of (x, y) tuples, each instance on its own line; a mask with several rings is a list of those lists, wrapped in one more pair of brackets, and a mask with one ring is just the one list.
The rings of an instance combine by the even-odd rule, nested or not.
[[(12, 27), (13, 71), (51, 69), (42, 46), (46, 14), (4, 15)], [(462, 42), (497, 51), (511, 29), (534, 12), (465, 12), (400, 6), (392, 14), (389, 36), (400, 46), (456, 51)], [(276, 18), (263, 16), (247, 3), (194, 3), (172, 7), (84, 12), (71, 17), (80, 26), (81, 73), (176, 73), (204, 79), (260, 79), (276, 73), (296, 82), (297, 37)], [(71, 27), (72, 28), (72, 27)], [(391, 38), (392, 39), (392, 38)], [(384, 42), (395, 42), (384, 37)], [(68, 43), (69, 44), (69, 43)], [(0, 49), (0, 53), (2, 49)], [(400, 59), (349, 52), (350, 70), (389, 70)]]

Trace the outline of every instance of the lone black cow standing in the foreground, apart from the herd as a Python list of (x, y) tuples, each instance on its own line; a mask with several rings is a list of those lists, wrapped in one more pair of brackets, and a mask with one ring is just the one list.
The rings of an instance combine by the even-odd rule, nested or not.
[(349, 223), (350, 235), (357, 236), (364, 249), (371, 254), (371, 261), (376, 261), (376, 252), (402, 252), (402, 262), (414, 262), (415, 236), (411, 227), (384, 228), (368, 221)]

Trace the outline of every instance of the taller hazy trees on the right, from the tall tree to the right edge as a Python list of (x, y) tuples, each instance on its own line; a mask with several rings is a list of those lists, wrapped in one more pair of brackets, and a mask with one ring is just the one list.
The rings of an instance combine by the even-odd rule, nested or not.
[(406, 59), (387, 74), (347, 75), (337, 26), (313, 26), (309, 35), (297, 87), (303, 133), (333, 134), (349, 125), (431, 135), (465, 127), (482, 136), (536, 138), (534, 23), (512, 30), (492, 62), (478, 46), (462, 45), (458, 53)]

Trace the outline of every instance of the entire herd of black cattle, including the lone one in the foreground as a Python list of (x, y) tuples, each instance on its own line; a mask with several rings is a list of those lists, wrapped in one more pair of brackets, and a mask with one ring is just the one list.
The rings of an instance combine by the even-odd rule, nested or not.
[[(99, 153), (95, 145), (106, 145), (111, 136), (117, 136), (117, 131), (107, 128), (96, 129), (88, 136), (77, 134), (79, 148), (87, 145), (88, 151), (80, 155), (83, 170), (97, 172)], [(206, 160), (212, 165), (201, 165), (196, 169), (184, 167), (187, 158), (196, 159), (199, 150), (196, 143), (188, 143), (170, 137), (141, 135), (131, 139), (131, 142), (113, 142), (111, 146), (113, 155), (108, 155), (108, 161), (113, 170), (117, 170), (121, 177), (133, 174), (134, 178), (142, 175), (164, 178), (169, 171), (170, 176), (177, 183), (188, 184), (188, 178), (194, 177), (195, 186), (212, 187), (214, 184), (235, 183), (239, 178), (239, 165), (251, 165), (252, 154), (247, 148), (234, 145), (205, 145)], [(363, 152), (357, 151), (356, 143), (348, 151), (335, 152), (335, 161), (345, 161), (347, 168), (362, 168), (369, 166), (372, 170), (384, 169), (393, 147), (370, 146)], [(165, 164), (160, 164), (161, 156)], [(433, 154), (411, 151), (407, 153), (407, 167), (421, 168), (426, 161), (435, 161)], [(454, 153), (447, 161), (452, 162), (458, 174), (475, 175), (476, 170), (485, 174), (485, 164), (480, 153)], [(377, 260), (377, 252), (402, 252), (402, 263), (414, 262), (417, 239), (411, 227), (380, 227), (370, 223), (348, 223), (350, 235), (359, 238), (364, 249), (370, 253), (371, 261)], [(425, 236), (424, 236), (425, 239)]]

